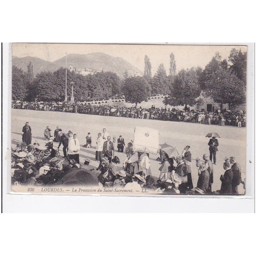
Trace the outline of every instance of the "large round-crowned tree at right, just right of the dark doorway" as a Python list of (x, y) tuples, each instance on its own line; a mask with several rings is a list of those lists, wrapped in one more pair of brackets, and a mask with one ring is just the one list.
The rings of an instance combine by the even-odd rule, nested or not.
[(221, 108), (223, 104), (228, 104), (230, 108), (245, 103), (245, 85), (229, 70), (220, 69), (214, 72), (206, 82), (206, 88), (206, 95), (220, 103)]

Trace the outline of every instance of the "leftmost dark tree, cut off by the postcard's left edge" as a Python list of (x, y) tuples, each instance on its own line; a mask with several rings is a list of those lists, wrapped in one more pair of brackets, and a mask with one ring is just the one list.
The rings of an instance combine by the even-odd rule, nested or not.
[(24, 100), (27, 96), (25, 73), (12, 66), (12, 100)]

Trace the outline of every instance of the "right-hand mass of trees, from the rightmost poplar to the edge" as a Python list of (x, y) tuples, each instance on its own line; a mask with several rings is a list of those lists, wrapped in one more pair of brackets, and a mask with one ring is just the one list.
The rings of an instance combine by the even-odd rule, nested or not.
[(204, 69), (182, 69), (177, 75), (173, 75), (172, 71), (174, 56), (171, 54), (170, 58), (170, 76), (165, 83), (165, 87), (170, 88), (170, 93), (164, 100), (165, 104), (194, 106), (201, 103), (198, 99), (201, 92), (220, 103), (221, 107), (223, 104), (237, 107), (246, 102), (247, 53), (241, 49), (231, 50), (228, 57), (230, 64), (226, 59), (221, 60), (220, 53), (216, 52)]

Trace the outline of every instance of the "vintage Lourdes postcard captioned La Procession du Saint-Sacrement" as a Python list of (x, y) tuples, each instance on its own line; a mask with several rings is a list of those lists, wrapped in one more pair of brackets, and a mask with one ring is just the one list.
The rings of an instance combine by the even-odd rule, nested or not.
[(11, 193), (246, 195), (247, 54), (13, 43)]

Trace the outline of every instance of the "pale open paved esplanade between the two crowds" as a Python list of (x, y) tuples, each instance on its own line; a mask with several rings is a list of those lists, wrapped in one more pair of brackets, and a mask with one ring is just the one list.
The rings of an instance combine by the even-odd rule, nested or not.
[[(44, 145), (46, 142), (44, 140), (44, 129), (46, 126), (49, 126), (52, 129), (52, 135), (54, 134), (56, 126), (60, 126), (64, 132), (71, 130), (73, 133), (76, 133), (81, 144), (80, 162), (83, 163), (84, 158), (89, 158), (91, 160), (91, 165), (95, 167), (95, 169), (99, 165), (99, 163), (95, 161), (95, 142), (98, 137), (98, 132), (102, 132), (103, 128), (107, 129), (107, 132), (111, 135), (111, 137), (115, 135), (116, 140), (119, 135), (122, 135), (126, 144), (133, 139), (135, 126), (147, 126), (149, 128), (158, 129), (160, 132), (160, 144), (166, 142), (167, 144), (176, 147), (179, 153), (182, 152), (186, 145), (190, 146), (190, 151), (193, 158), (192, 180), (194, 186), (196, 186), (198, 179), (195, 158), (199, 156), (200, 159), (203, 159), (203, 154), (209, 153), (209, 146), (207, 145), (209, 138), (205, 138), (205, 135), (209, 132), (217, 132), (221, 138), (218, 139), (220, 146), (218, 147), (219, 151), (217, 152), (217, 165), (213, 165), (213, 189), (220, 189), (220, 175), (224, 174), (222, 164), (225, 157), (236, 157), (237, 162), (239, 162), (242, 167), (242, 179), (245, 178), (245, 128), (132, 119), (125, 117), (93, 116), (75, 113), (12, 109), (12, 147), (15, 147), (17, 144), (15, 139), (21, 141), (22, 127), (25, 122), (29, 122), (29, 125), (31, 126), (32, 143), (37, 140), (39, 143)], [(82, 148), (86, 142), (85, 137), (88, 132), (91, 132), (92, 135), (92, 148)], [(55, 142), (54, 145), (58, 146), (58, 143)], [(60, 149), (62, 149), (62, 146)], [(60, 154), (63, 155), (62, 151), (60, 151)], [(117, 142), (115, 143), (115, 155), (120, 158), (121, 164), (118, 165), (118, 169), (121, 169), (125, 154), (117, 152)], [(149, 157), (152, 175), (158, 177), (158, 169), (160, 164), (158, 161), (154, 160), (156, 159), (157, 155), (151, 154)], [(239, 191), (240, 193), (244, 193), (241, 184), (239, 186)]]

